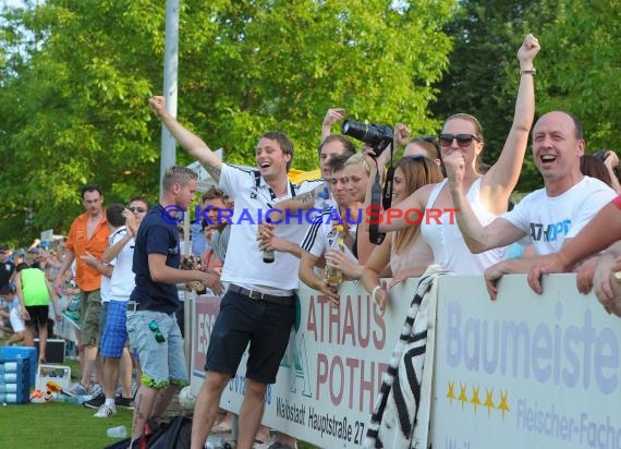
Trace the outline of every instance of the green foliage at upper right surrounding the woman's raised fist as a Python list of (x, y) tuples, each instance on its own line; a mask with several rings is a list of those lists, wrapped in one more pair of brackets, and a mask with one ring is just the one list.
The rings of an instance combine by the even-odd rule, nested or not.
[[(454, 37), (447, 75), (437, 84), (438, 118), (470, 112), (483, 124), (484, 160), (494, 163), (511, 126), (518, 87), (515, 52), (526, 33), (539, 38), (536, 116), (567, 110), (585, 129), (587, 151), (614, 148), (621, 125), (621, 3), (597, 0), (464, 0), (447, 25)], [(541, 186), (527, 155), (518, 191)]]

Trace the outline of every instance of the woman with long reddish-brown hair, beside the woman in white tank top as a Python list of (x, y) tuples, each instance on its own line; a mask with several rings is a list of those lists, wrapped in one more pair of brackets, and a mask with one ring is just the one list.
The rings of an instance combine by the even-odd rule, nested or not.
[[(442, 181), (438, 163), (423, 155), (405, 156), (394, 167), (392, 204), (398, 205), (412, 193), (427, 184)], [(418, 227), (407, 227), (391, 232), (376, 246), (366, 262), (362, 281), (383, 313), (388, 296), (387, 286), (380, 286), (380, 276), (392, 276), (389, 287), (423, 274), (434, 263), (429, 245), (421, 238)], [(385, 268), (388, 267), (388, 272)]]

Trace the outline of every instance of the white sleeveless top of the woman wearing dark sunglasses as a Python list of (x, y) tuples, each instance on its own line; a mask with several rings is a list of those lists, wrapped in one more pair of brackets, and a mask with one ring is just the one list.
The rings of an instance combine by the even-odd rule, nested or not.
[[(427, 202), (427, 209), (434, 207), (434, 203), (442, 187), (447, 184), (448, 180), (437, 184)], [(497, 215), (491, 214), (480, 203), (480, 178), (476, 180), (466, 195), (474, 215), (478, 218), (483, 226), (489, 225)], [(456, 213), (459, 214), (459, 213)], [(450, 223), (451, 216), (445, 213), (440, 217), (440, 223), (435, 219), (424, 219), (421, 225), (421, 233), (423, 239), (431, 246), (434, 252), (434, 260), (439, 264), (447, 271), (454, 272), (455, 275), (483, 275), (485, 269), (506, 258), (507, 247), (499, 247), (486, 251), (480, 254), (472, 254), (466, 246), (463, 235), (456, 222), (456, 217), (453, 216), (453, 223)]]

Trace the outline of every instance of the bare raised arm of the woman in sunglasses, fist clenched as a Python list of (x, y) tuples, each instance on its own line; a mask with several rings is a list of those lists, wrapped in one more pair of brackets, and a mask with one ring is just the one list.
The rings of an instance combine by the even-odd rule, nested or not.
[(518, 51), (520, 60), (520, 88), (511, 131), (507, 136), (498, 161), (484, 175), (480, 199), (495, 214), (507, 210), (509, 195), (515, 187), (528, 144), (528, 133), (535, 116), (535, 72), (533, 61), (539, 51), (539, 43), (527, 35)]

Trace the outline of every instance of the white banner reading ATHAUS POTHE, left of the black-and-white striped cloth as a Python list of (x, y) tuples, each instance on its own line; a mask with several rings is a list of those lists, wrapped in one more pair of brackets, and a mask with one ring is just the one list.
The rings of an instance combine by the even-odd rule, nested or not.
[[(322, 295), (302, 288), (297, 331), (268, 387), (264, 423), (272, 428), (324, 448), (360, 448), (366, 434), (375, 396), (381, 385), (399, 329), (416, 286), (415, 280), (397, 286), (392, 303), (379, 316), (362, 286), (341, 286), (341, 307), (331, 308)], [(192, 390), (198, 392), (210, 329), (219, 300), (199, 296), (196, 321)], [(231, 379), (221, 405), (238, 411), (243, 399), (246, 356)]]

